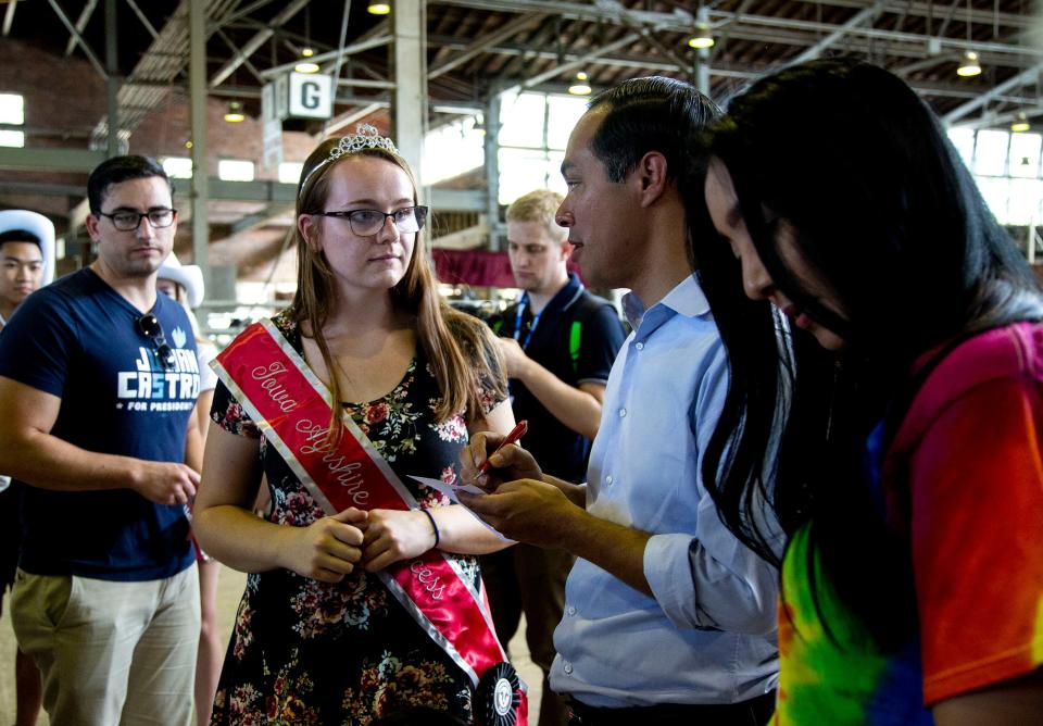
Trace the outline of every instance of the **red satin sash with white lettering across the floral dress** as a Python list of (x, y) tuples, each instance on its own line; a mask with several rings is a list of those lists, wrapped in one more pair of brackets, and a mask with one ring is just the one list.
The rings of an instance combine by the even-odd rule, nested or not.
[[(418, 508), (410, 490), (351, 416), (341, 416), (344, 434), (338, 445), (331, 447), (327, 442), (331, 415), (329, 390), (271, 321), (250, 325), (217, 356), (213, 366), (268, 443), (327, 514), (349, 506), (361, 510)], [(398, 562), (377, 575), (476, 688), (483, 675), (492, 675), (493, 666), (506, 661), (483, 593), (476, 591), (460, 565), (440, 550), (432, 549), (412, 561)], [(507, 717), (502, 723), (525, 726), (528, 706), (524, 684), (511, 688), (510, 694), (499, 679), (490, 688), (494, 711), (501, 717), (505, 715), (505, 701), (520, 697), (512, 714), (516, 721)], [(480, 717), (478, 708), (475, 712)]]

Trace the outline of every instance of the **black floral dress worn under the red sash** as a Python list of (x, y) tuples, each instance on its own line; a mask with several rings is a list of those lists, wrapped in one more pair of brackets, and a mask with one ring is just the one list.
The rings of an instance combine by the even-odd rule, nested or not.
[[(285, 316), (274, 322), (300, 352), (294, 324)], [(418, 353), (390, 393), (344, 404), (425, 508), (450, 502), (407, 475), (452, 481), (457, 452), (468, 438), (463, 416), (435, 421), (439, 399), (437, 381)], [(483, 397), (487, 411), (497, 403)], [(233, 434), (260, 437), (224, 384), (214, 393), (211, 416)], [(300, 527), (324, 516), (275, 449), (260, 439), (272, 493), (266, 518)], [(477, 587), (475, 558), (450, 556)], [(248, 577), (212, 724), (362, 726), (418, 705), (470, 722), (470, 681), (376, 575), (356, 569), (338, 584), (326, 584), (280, 568)]]

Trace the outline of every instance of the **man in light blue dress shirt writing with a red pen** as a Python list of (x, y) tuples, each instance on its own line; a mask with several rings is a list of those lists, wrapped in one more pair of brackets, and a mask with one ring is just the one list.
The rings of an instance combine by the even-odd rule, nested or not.
[[(727, 353), (688, 255), (702, 198), (700, 137), (717, 110), (669, 78), (595, 97), (562, 164), (557, 213), (591, 285), (627, 287), (633, 327), (605, 390), (586, 486), (532, 468), (462, 497), (507, 537), (579, 559), (554, 634), (555, 691), (574, 724), (764, 724), (778, 680), (778, 573), (740, 543), (702, 483), (728, 387)], [(493, 437), (465, 456), (473, 473)], [(543, 462), (552, 468), (552, 462)]]

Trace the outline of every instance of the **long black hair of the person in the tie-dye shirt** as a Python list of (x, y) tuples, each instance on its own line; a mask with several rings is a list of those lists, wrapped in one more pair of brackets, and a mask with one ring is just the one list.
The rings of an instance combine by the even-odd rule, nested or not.
[[(732, 100), (709, 143), (731, 175), (772, 281), (844, 338), (847, 350), (838, 358), (801, 330), (729, 348), (732, 385), (704, 479), (725, 523), (778, 562), (770, 533), (747, 505), (751, 492), (764, 488), (757, 452), (771, 451), (779, 436), (768, 466), (770, 508), (789, 535), (809, 524), (803, 566), (816, 603), (817, 561), (876, 640), (895, 647), (916, 623), (912, 572), (906, 543), (885, 525), (868, 486), (867, 439), (885, 418), (889, 431), (901, 422), (917, 385), (907, 372), (918, 355), (988, 327), (1038, 318), (1038, 285), (938, 118), (887, 71), (832, 59), (767, 76)], [(829, 279), (844, 320), (824, 310), (780, 259), (779, 218)], [(734, 277), (734, 261), (715, 247), (708, 238), (696, 250), (704, 267), (714, 266), (706, 276)], [(711, 304), (717, 309), (713, 297)], [(783, 375), (736, 360), (754, 352), (770, 356)], [(780, 410), (784, 426), (775, 435)]]

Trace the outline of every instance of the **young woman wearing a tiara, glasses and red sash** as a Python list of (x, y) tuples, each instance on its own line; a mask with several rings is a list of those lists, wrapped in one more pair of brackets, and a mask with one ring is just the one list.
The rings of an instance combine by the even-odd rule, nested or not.
[(426, 218), (390, 139), (324, 141), (298, 190), (293, 304), (218, 358), (196, 533), (250, 576), (214, 724), (469, 723), (489, 703), (524, 723), (468, 556), (505, 542), (410, 478), (453, 483), (468, 431), (514, 424), (491, 333), (438, 296)]

